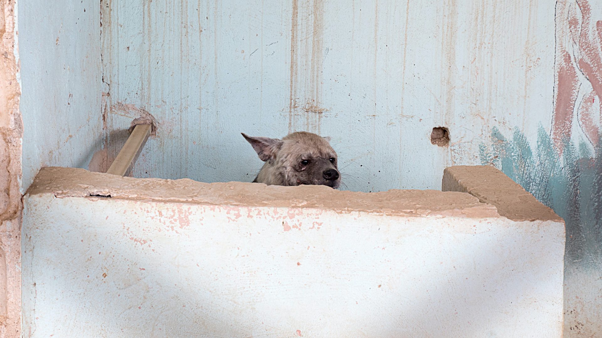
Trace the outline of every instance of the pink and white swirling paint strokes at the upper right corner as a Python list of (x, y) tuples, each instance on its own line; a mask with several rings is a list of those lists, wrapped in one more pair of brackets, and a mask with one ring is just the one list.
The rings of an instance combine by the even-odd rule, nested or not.
[[(595, 15), (599, 17), (600, 13)], [(602, 20), (594, 22), (587, 0), (557, 2), (556, 17), (551, 137), (562, 154), (564, 140), (574, 134), (573, 126), (582, 129), (592, 145), (598, 143), (602, 125)], [(579, 73), (585, 76), (578, 76)], [(577, 102), (579, 91), (585, 91), (585, 95)], [(579, 123), (574, 123), (575, 120)]]

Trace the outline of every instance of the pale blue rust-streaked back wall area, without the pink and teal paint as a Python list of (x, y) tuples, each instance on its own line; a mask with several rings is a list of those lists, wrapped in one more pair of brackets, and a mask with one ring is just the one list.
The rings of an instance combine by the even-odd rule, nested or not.
[[(240, 132), (307, 130), (332, 137), (350, 190), (438, 189), (492, 126), (535, 144), (552, 116), (554, 2), (114, 0), (103, 29), (110, 105), (160, 123), (137, 177), (250, 182)], [(108, 132), (132, 117), (113, 109)]]

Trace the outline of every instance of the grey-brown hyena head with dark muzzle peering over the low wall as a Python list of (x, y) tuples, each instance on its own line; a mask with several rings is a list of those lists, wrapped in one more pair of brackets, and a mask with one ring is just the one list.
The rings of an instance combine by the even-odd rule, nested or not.
[(337, 153), (330, 147), (329, 137), (309, 132), (294, 132), (282, 140), (245, 134), (243, 137), (265, 162), (253, 182), (327, 185), (335, 189), (341, 185)]

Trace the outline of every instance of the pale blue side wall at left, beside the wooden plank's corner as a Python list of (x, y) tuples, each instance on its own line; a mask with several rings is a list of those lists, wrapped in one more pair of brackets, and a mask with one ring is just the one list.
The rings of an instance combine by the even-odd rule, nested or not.
[(100, 13), (94, 0), (17, 5), (25, 191), (41, 167), (87, 168), (102, 146)]

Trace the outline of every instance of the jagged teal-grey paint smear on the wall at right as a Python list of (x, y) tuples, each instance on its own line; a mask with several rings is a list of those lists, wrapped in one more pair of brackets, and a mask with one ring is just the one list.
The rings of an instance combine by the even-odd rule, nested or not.
[(564, 140), (560, 155), (541, 125), (535, 148), (520, 129), (506, 138), (494, 127), (479, 156), (565, 220), (565, 267), (602, 269), (602, 135), (593, 152), (588, 143)]

